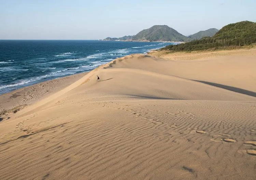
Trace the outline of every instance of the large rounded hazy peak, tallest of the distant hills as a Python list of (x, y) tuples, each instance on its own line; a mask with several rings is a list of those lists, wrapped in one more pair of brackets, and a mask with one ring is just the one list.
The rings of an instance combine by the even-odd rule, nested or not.
[(133, 41), (188, 41), (189, 38), (167, 25), (154, 25), (132, 37)]

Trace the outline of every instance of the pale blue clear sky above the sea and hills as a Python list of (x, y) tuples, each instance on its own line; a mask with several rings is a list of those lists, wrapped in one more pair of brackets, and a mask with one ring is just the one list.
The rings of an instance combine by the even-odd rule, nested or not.
[(168, 25), (183, 35), (256, 22), (256, 0), (0, 0), (0, 39), (104, 39)]

